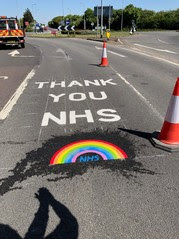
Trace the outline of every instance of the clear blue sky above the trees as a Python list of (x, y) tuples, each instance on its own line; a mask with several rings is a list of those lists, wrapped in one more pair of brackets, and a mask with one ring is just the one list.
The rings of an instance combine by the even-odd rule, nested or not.
[[(65, 15), (82, 15), (88, 7), (93, 9), (100, 4), (101, 0), (0, 0), (0, 15), (21, 17), (29, 8), (37, 21), (47, 24), (53, 17), (63, 15), (63, 9)], [(179, 8), (179, 0), (103, 0), (104, 6), (111, 5), (115, 9), (128, 4), (155, 11)]]

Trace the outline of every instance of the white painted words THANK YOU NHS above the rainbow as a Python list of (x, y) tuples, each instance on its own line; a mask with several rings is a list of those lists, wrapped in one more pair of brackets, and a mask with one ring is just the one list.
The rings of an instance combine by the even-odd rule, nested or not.
[[(49, 87), (50, 89), (61, 89), (61, 88), (71, 88), (71, 87), (89, 87), (89, 86), (96, 86), (96, 87), (106, 87), (108, 85), (116, 86), (117, 84), (113, 82), (113, 79), (95, 79), (95, 80), (84, 80), (83, 82), (79, 81), (71, 81), (69, 84), (67, 84), (65, 81), (44, 81), (44, 82), (35, 82), (38, 89), (43, 89)], [(52, 91), (52, 90), (51, 90)], [(51, 100), (52, 103), (60, 103), (61, 99), (67, 99), (69, 101), (73, 102), (80, 102), (87, 99), (91, 99), (94, 101), (104, 101), (108, 98), (106, 92), (104, 90), (99, 92), (92, 92), (89, 91), (87, 93), (83, 92), (74, 92), (70, 94), (61, 93), (61, 94), (54, 94), (50, 91), (49, 93), (49, 101)], [(67, 122), (69, 124), (77, 124), (78, 120), (83, 118), (86, 119), (86, 122), (88, 123), (94, 123), (94, 117), (93, 114), (95, 114), (95, 118), (97, 118), (100, 122), (116, 122), (121, 119), (121, 117), (118, 115), (117, 111), (114, 109), (104, 108), (97, 110), (96, 112), (92, 112), (90, 109), (81, 110), (80, 112), (76, 112), (75, 110), (71, 110), (69, 112), (66, 111), (60, 111), (57, 112), (55, 115), (51, 112), (45, 112), (41, 126), (47, 127), (50, 123), (50, 121), (56, 123), (57, 125), (66, 125)], [(79, 121), (80, 122), (80, 121)]]

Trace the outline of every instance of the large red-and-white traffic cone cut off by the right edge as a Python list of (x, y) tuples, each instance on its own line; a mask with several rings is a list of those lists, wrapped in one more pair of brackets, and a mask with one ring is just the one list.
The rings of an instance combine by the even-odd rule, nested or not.
[(179, 151), (179, 77), (168, 106), (162, 130), (153, 133), (152, 143), (167, 151)]

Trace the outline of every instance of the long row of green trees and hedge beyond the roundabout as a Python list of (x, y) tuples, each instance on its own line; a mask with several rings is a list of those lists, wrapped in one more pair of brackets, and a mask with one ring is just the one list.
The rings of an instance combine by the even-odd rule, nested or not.
[[(179, 8), (173, 11), (160, 11), (155, 12), (152, 10), (143, 10), (137, 8), (132, 4), (125, 7), (125, 9), (114, 9), (111, 17), (111, 29), (121, 29), (121, 18), (123, 14), (123, 27), (130, 28), (131, 21), (134, 20), (137, 28), (139, 29), (166, 29), (177, 30), (179, 29)], [(88, 8), (83, 16), (80, 15), (67, 15), (65, 17), (54, 17), (48, 25), (50, 27), (58, 28), (62, 20), (70, 19), (71, 23), (77, 29), (83, 29), (84, 17), (86, 20), (86, 28), (91, 29), (91, 23), (97, 25), (97, 18), (94, 16), (94, 11)], [(108, 27), (109, 19), (104, 18), (104, 25)]]

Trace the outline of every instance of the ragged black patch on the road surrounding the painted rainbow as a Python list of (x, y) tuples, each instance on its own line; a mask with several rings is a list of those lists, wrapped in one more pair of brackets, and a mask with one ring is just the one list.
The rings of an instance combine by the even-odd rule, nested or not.
[[(49, 165), (49, 161), (54, 153), (61, 147), (78, 140), (105, 140), (111, 142), (122, 148), (128, 155), (125, 160), (113, 161), (99, 161), (89, 163), (73, 163), (61, 165)], [(76, 132), (70, 136), (52, 137), (43, 143), (41, 148), (33, 150), (26, 154), (26, 158), (18, 162), (13, 170), (9, 172), (12, 174), (0, 180), (0, 195), (4, 195), (8, 191), (14, 189), (21, 189), (22, 187), (14, 187), (16, 183), (21, 183), (33, 176), (48, 176), (58, 175), (54, 179), (48, 181), (58, 181), (67, 178), (73, 178), (76, 175), (83, 175), (88, 169), (99, 167), (101, 169), (108, 169), (114, 173), (120, 173), (126, 178), (134, 177), (135, 173), (154, 175), (155, 172), (145, 169), (140, 162), (136, 162), (135, 146), (130, 138), (121, 131), (102, 131), (96, 130), (89, 133)], [(135, 174), (136, 175), (136, 174)], [(17, 185), (16, 185), (17, 186)]]

